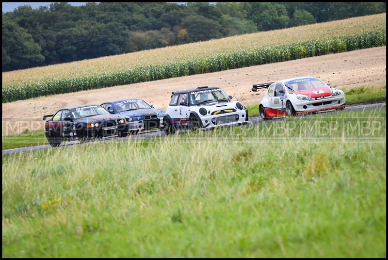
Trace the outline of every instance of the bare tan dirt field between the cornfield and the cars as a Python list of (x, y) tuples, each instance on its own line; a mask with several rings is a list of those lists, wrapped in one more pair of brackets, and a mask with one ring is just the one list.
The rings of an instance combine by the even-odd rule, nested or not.
[(226, 94), (245, 105), (257, 103), (262, 92), (251, 91), (252, 84), (298, 76), (313, 76), (340, 89), (360, 85), (385, 84), (387, 80), (386, 47), (329, 54), (288, 62), (244, 67), (221, 72), (149, 81), (110, 88), (88, 90), (49, 97), (37, 97), (2, 104), (2, 135), (25, 129), (43, 129), (45, 114), (81, 104), (100, 104), (121, 98), (142, 98), (156, 108), (165, 109), (171, 91), (198, 86), (219, 86)]

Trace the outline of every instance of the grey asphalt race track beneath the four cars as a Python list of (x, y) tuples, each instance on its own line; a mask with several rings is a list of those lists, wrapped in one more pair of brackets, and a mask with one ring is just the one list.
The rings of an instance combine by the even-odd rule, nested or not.
[[(344, 110), (342, 111), (329, 111), (329, 112), (322, 112), (322, 113), (317, 113), (317, 114), (337, 114), (337, 113), (343, 113), (343, 112), (351, 112), (351, 111), (362, 111), (362, 110), (371, 110), (371, 109), (386, 109), (386, 102), (379, 102), (379, 103), (368, 103), (368, 104), (355, 104), (355, 105), (349, 105), (346, 106)], [(311, 116), (316, 116), (317, 114), (308, 114), (304, 116), (297, 116), (296, 118), (306, 118), (306, 117), (311, 117)], [(261, 119), (261, 117), (250, 117), (250, 121), (252, 122), (253, 125), (259, 125), (263, 122), (274, 122), (274, 121), (279, 121), (283, 120), (284, 117), (278, 117), (273, 120), (268, 120), (264, 121)], [(179, 131), (179, 133), (184, 133), (187, 131)], [(155, 130), (155, 131), (149, 131), (149, 132), (144, 132), (140, 133), (137, 135), (132, 135), (129, 137), (124, 137), (124, 138), (112, 138), (112, 139), (106, 139), (106, 140), (101, 140), (98, 142), (113, 142), (113, 141), (126, 141), (126, 140), (142, 140), (142, 139), (147, 139), (147, 138), (153, 138), (153, 137), (162, 137), (165, 136), (164, 131), (160, 130)], [(44, 150), (44, 149), (61, 149), (63, 146), (70, 146), (70, 145), (85, 145), (85, 144), (80, 144), (79, 141), (71, 141), (71, 142), (65, 142), (64, 144), (61, 144), (59, 147), (52, 148), (50, 145), (43, 145), (43, 146), (28, 146), (28, 147), (20, 147), (20, 148), (14, 148), (14, 149), (8, 149), (8, 150), (2, 150), (2, 154), (10, 154), (10, 153), (19, 153), (19, 152), (28, 152), (28, 151), (34, 151), (34, 150)]]

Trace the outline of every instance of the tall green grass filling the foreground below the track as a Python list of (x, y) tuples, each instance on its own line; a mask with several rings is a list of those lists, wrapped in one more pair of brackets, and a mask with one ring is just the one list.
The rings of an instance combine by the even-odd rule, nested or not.
[(2, 256), (386, 257), (386, 127), (340, 135), (235, 128), (3, 156)]

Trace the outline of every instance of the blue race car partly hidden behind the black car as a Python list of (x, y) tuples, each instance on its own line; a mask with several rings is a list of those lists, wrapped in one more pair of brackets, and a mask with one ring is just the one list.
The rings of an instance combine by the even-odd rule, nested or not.
[(124, 116), (129, 124), (142, 124), (141, 130), (163, 128), (163, 110), (154, 109), (153, 105), (148, 105), (143, 99), (124, 99), (101, 104), (111, 114)]

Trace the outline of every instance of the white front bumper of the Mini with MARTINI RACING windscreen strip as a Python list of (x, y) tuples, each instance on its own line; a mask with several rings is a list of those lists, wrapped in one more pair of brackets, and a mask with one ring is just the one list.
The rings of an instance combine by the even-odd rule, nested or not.
[(202, 116), (202, 126), (204, 129), (229, 126), (247, 122), (248, 110), (239, 110), (236, 112)]

